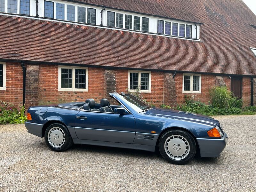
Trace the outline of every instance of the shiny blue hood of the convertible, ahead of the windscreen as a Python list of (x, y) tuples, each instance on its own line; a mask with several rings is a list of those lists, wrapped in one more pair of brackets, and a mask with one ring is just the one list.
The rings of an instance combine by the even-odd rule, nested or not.
[(144, 114), (151, 115), (151, 116), (161, 116), (161, 117), (166, 117), (171, 119), (180, 119), (180, 120), (215, 125), (215, 126), (220, 125), (220, 122), (212, 117), (174, 110), (174, 109), (153, 108), (148, 111), (145, 111)]

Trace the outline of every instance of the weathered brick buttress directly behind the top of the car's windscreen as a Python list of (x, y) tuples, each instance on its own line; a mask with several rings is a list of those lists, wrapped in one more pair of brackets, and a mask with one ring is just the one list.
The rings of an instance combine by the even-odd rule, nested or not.
[(105, 97), (111, 104), (115, 103), (115, 100), (110, 97), (108, 93), (116, 92), (116, 77), (114, 70), (105, 70)]

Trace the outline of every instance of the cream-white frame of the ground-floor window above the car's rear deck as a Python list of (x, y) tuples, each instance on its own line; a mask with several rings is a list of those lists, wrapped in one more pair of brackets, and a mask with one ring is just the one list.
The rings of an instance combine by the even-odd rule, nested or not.
[[(61, 88), (61, 69), (72, 69), (72, 88)], [(75, 69), (85, 69), (85, 89), (75, 88)], [(75, 66), (65, 66), (59, 65), (59, 91), (75, 91), (75, 92), (88, 92), (88, 67), (75, 67)]]

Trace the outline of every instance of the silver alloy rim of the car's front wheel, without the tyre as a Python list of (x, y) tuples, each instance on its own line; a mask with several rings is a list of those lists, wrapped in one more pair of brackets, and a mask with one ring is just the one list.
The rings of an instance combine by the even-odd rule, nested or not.
[(172, 135), (164, 142), (165, 153), (174, 160), (181, 160), (188, 156), (190, 146), (188, 140), (180, 135)]

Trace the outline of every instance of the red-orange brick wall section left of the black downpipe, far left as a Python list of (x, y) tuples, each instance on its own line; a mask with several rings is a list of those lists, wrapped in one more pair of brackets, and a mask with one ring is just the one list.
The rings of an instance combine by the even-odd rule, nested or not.
[(23, 72), (20, 63), (6, 62), (6, 90), (0, 90), (0, 100), (16, 107), (23, 105)]

